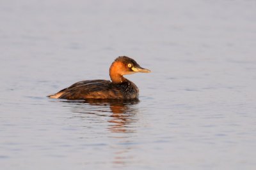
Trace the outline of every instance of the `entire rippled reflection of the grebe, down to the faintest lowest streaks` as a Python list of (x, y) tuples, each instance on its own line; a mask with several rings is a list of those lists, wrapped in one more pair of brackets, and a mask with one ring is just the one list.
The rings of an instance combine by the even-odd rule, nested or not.
[[(95, 124), (108, 122), (106, 127), (110, 134), (109, 138), (114, 139), (113, 145), (110, 146), (110, 152), (114, 152), (113, 165), (116, 167), (124, 167), (134, 160), (132, 150), (136, 150), (136, 146), (131, 145), (132, 134), (136, 132), (136, 122), (138, 121), (139, 100), (132, 101), (113, 101), (113, 100), (87, 100), (87, 101), (62, 101), (68, 103), (72, 109), (72, 113), (82, 113), (76, 117), (88, 118)], [(67, 106), (67, 105), (66, 105)], [(97, 117), (92, 117), (97, 115)], [(106, 117), (103, 118), (102, 117)], [(94, 124), (94, 125), (95, 125)], [(115, 144), (115, 145), (114, 145)]]

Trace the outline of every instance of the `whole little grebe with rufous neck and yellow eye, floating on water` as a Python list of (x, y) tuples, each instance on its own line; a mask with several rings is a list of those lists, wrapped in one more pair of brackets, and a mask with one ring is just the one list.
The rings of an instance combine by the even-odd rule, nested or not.
[(136, 99), (139, 89), (132, 81), (124, 78), (124, 74), (149, 73), (150, 70), (140, 67), (129, 57), (118, 57), (109, 68), (112, 80), (86, 80), (74, 83), (70, 87), (48, 97), (54, 99)]

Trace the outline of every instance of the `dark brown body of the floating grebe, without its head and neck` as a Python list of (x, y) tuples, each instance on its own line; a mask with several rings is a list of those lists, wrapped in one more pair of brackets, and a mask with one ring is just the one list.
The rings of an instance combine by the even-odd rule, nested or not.
[(50, 96), (60, 99), (134, 99), (137, 98), (139, 89), (127, 80), (116, 84), (108, 80), (79, 81), (70, 87)]

